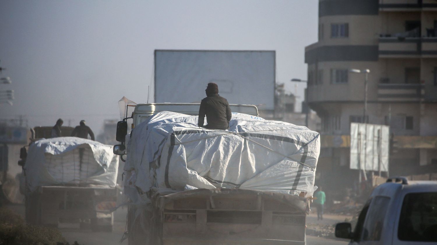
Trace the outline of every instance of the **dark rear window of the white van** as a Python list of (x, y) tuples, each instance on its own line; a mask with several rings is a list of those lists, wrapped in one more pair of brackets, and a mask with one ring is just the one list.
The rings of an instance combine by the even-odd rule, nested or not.
[(398, 238), (402, 241), (437, 242), (437, 192), (405, 195)]

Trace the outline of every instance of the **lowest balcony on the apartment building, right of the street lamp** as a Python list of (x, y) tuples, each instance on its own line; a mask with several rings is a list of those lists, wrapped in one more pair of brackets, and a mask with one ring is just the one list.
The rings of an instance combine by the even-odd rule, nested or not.
[(423, 84), (378, 84), (378, 101), (421, 101), (424, 95)]

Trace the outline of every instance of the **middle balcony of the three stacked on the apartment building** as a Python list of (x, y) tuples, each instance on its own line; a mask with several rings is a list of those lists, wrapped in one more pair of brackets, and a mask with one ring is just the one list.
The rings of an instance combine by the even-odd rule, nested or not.
[(436, 58), (437, 37), (379, 37), (379, 58)]

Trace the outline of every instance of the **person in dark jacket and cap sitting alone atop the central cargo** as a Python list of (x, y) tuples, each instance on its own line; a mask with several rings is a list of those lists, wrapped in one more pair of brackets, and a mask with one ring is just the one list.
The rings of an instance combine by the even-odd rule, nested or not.
[[(210, 82), (205, 89), (206, 98), (202, 99), (199, 108), (199, 127), (205, 129), (228, 129), (232, 113), (228, 101), (218, 95), (218, 85)], [(206, 120), (207, 125), (203, 125)]]

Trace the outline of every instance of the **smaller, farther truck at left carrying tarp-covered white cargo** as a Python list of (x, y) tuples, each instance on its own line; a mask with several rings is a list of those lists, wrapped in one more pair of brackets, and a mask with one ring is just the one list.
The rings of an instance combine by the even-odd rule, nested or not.
[[(77, 137), (45, 139), (50, 129), (35, 127), (28, 150), (20, 151), (26, 221), (50, 227), (79, 222), (81, 228), (112, 231), (118, 173), (112, 146)], [(68, 129), (62, 127), (63, 135)]]

